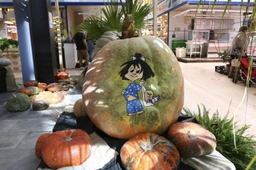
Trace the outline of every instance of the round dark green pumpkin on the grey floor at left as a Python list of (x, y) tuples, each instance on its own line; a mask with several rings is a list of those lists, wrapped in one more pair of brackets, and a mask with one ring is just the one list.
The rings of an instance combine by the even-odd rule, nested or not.
[(6, 101), (8, 111), (23, 111), (31, 107), (30, 98), (23, 93), (12, 94)]

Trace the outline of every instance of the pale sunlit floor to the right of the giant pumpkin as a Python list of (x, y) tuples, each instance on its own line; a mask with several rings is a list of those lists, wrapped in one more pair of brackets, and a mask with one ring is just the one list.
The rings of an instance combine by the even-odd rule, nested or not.
[(236, 120), (238, 124), (251, 124), (248, 130), (250, 134), (256, 132), (256, 86), (252, 85), (247, 90), (244, 102), (241, 107), (239, 103), (244, 95), (245, 86), (242, 81), (237, 84), (232, 82), (226, 75), (215, 71), (216, 65), (224, 63), (179, 63), (184, 76), (185, 100), (184, 107), (197, 111), (197, 104), (203, 104), (211, 109), (211, 113), (216, 110), (224, 116), (228, 113), (231, 118), (236, 109)]

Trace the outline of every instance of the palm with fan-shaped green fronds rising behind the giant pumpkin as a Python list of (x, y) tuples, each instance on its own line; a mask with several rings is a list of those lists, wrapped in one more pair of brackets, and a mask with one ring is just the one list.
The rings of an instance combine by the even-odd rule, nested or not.
[(88, 38), (98, 39), (105, 31), (122, 31), (122, 39), (137, 36), (140, 29), (145, 25), (144, 19), (151, 12), (151, 7), (142, 4), (139, 0), (126, 0), (121, 2), (121, 9), (117, 0), (111, 0), (108, 6), (101, 9), (105, 17), (100, 18), (92, 15), (78, 26), (79, 29), (88, 31)]

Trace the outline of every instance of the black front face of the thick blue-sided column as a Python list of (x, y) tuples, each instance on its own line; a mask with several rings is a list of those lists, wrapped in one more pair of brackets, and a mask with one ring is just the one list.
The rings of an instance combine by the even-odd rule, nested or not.
[(28, 0), (38, 81), (53, 83), (57, 73), (51, 0)]

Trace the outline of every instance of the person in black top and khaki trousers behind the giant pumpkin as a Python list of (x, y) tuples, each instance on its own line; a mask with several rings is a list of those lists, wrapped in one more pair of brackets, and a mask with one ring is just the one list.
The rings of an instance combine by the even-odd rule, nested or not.
[(77, 55), (79, 57), (80, 70), (83, 70), (83, 59), (85, 59), (85, 67), (89, 65), (88, 46), (85, 40), (84, 30), (79, 30), (74, 36), (74, 42), (77, 46)]

